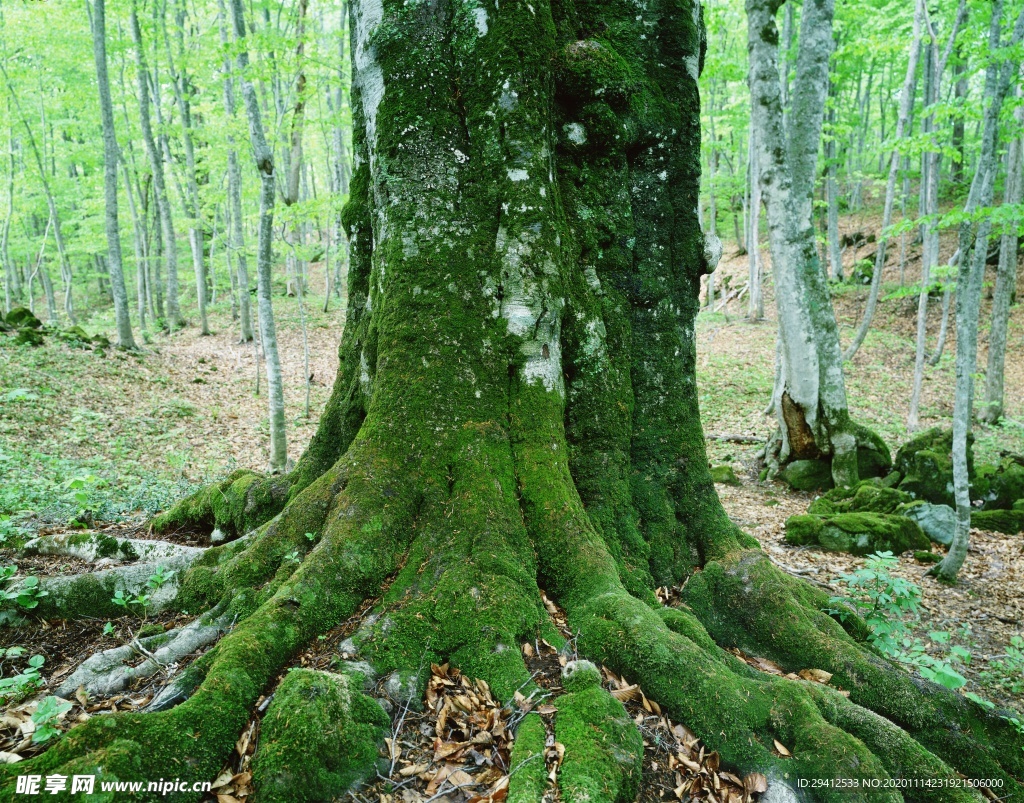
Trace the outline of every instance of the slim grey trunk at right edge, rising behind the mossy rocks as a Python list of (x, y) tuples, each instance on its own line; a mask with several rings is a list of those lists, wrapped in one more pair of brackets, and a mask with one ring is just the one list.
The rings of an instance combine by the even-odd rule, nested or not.
[[(1024, 98), (1024, 68), (1017, 84), (1017, 97)], [(1024, 127), (1024, 104), (1014, 111), (1018, 126)], [(1005, 203), (1009, 206), (1024, 200), (1024, 136), (1015, 135), (1007, 154)], [(1002, 380), (1007, 355), (1007, 325), (1010, 302), (1017, 290), (1017, 227), (1006, 231), (999, 240), (999, 266), (992, 294), (992, 325), (988, 335), (988, 369), (985, 372), (985, 406), (978, 418), (994, 424), (1002, 417)]]

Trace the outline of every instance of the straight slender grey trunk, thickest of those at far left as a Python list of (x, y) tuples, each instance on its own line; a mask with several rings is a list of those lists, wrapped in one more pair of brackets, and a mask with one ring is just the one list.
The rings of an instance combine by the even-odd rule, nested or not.
[(118, 329), (118, 348), (135, 349), (128, 313), (128, 291), (125, 287), (121, 260), (121, 229), (118, 225), (118, 163), (120, 161), (117, 133), (114, 130), (114, 104), (111, 102), (111, 82), (106, 74), (106, 0), (95, 0), (92, 7), (92, 52), (96, 61), (99, 85), (99, 113), (103, 124), (103, 203), (106, 223), (106, 269), (114, 295), (114, 316)]

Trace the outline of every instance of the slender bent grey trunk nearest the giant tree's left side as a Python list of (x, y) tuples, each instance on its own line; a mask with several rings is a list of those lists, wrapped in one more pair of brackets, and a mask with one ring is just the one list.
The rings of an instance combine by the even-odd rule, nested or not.
[(280, 473), (288, 468), (288, 439), (285, 432), (285, 394), (281, 379), (281, 360), (278, 356), (278, 334), (273, 325), (273, 305), (270, 290), (270, 264), (272, 260), (274, 185), (273, 152), (266, 143), (259, 102), (252, 80), (246, 75), (249, 53), (246, 50), (245, 12), (242, 0), (229, 0), (234, 27), (234, 42), (239, 48), (239, 78), (242, 97), (249, 118), (249, 136), (260, 175), (259, 244), (256, 249), (256, 295), (259, 304), (260, 340), (266, 365), (267, 398), (270, 418), (270, 471)]

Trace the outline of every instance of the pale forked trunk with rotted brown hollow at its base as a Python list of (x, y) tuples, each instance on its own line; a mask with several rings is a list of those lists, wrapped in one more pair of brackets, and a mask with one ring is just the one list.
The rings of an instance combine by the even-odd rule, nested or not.
[(857, 481), (839, 328), (814, 241), (812, 196), (833, 50), (833, 0), (804, 3), (791, 111), (783, 125), (777, 4), (748, 0), (752, 124), (757, 129), (781, 336), (772, 469), (797, 459), (831, 460), (838, 485)]

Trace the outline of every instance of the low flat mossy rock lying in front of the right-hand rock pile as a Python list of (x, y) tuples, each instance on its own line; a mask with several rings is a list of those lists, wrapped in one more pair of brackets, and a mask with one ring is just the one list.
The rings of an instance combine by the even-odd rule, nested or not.
[(818, 545), (833, 552), (867, 555), (908, 549), (928, 549), (928, 537), (916, 522), (885, 513), (839, 513), (791, 516), (785, 540), (796, 545)]

